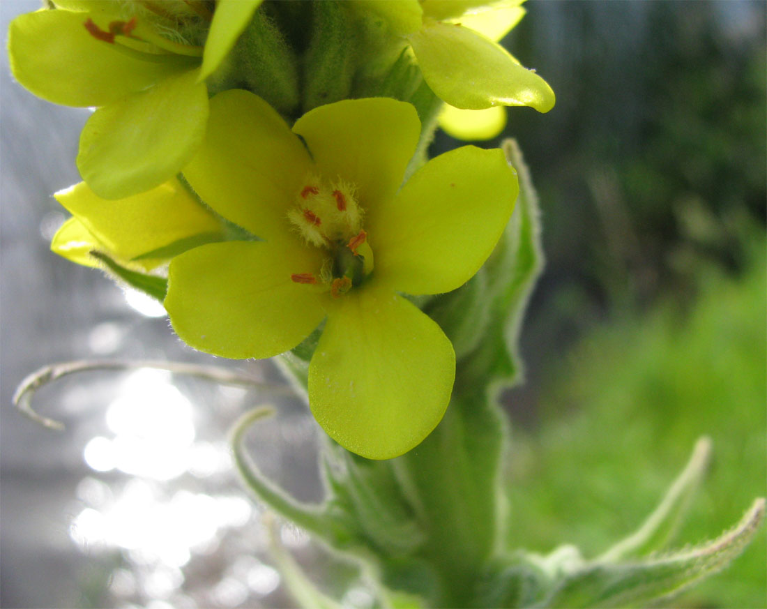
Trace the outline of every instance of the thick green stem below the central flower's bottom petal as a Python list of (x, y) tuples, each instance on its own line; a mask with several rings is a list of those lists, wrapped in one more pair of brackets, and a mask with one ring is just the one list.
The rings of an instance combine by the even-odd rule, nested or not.
[(436, 430), (393, 462), (427, 535), (419, 554), (442, 576), (439, 606), (471, 604), (499, 540), (503, 423), (484, 401), (481, 394), (454, 398)]

